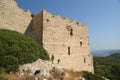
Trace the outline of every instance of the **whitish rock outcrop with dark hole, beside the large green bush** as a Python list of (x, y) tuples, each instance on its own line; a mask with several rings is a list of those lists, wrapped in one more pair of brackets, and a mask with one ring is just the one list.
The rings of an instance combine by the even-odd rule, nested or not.
[(36, 62), (30, 64), (24, 64), (20, 66), (20, 75), (29, 74), (34, 75), (40, 80), (52, 79), (59, 80), (65, 78), (64, 70), (59, 66), (59, 64), (52, 64), (50, 61), (43, 61), (38, 59)]

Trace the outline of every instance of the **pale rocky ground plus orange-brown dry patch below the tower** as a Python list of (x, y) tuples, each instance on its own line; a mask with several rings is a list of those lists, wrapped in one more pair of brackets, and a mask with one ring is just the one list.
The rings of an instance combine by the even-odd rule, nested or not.
[(62, 69), (59, 64), (41, 59), (31, 64), (21, 65), (19, 74), (21, 77), (25, 75), (34, 77), (33, 80), (82, 80), (81, 72)]

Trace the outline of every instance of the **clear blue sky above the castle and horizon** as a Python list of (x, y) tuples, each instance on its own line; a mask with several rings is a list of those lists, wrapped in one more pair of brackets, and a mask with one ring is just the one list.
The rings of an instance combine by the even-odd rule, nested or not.
[(88, 26), (91, 50), (120, 49), (120, 0), (16, 0), (24, 11), (48, 12)]

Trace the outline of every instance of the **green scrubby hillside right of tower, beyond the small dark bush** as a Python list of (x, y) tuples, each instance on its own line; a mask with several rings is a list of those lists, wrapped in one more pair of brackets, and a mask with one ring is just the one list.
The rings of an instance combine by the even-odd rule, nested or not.
[(120, 60), (107, 57), (94, 57), (94, 71), (96, 75), (110, 80), (120, 79)]

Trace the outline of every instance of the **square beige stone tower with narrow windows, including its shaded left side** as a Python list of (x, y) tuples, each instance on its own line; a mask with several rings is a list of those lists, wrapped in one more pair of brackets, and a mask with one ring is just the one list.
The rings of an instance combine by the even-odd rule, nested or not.
[(64, 69), (94, 72), (86, 26), (43, 10), (32, 19), (26, 34), (43, 45), (50, 56), (54, 55), (55, 64)]

